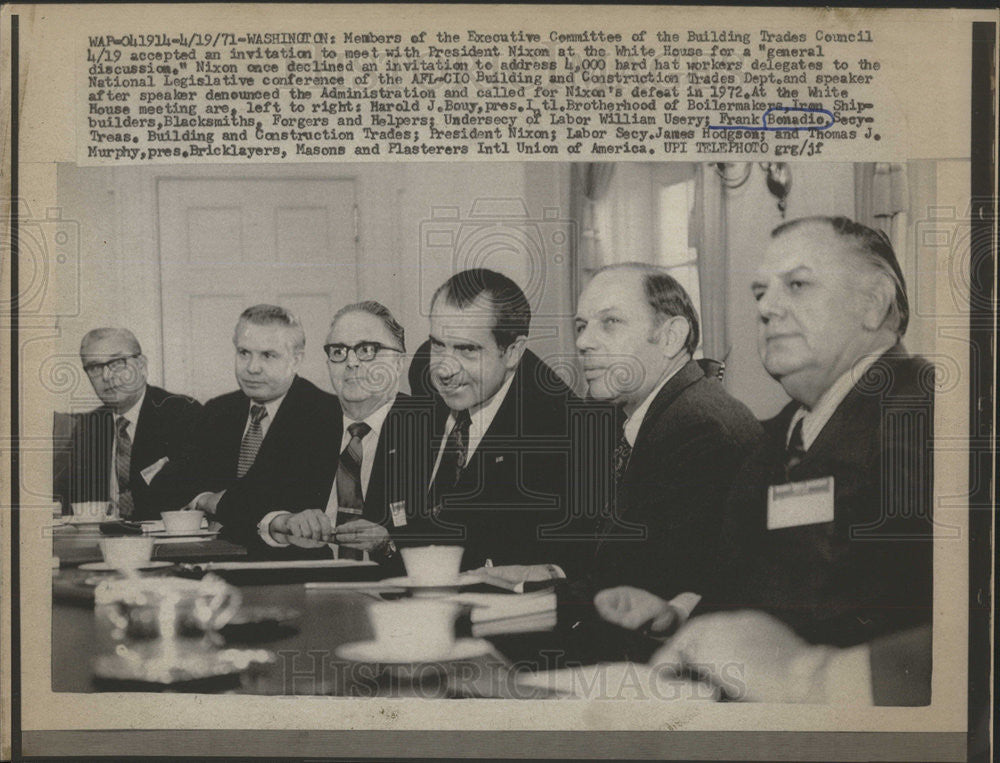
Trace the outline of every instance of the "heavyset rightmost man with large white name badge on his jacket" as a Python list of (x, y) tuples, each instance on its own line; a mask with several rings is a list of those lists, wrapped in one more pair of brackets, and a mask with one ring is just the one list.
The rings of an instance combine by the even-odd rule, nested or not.
[[(892, 246), (845, 218), (795, 220), (772, 233), (753, 291), (761, 359), (792, 402), (734, 482), (705, 605), (763, 610), (812, 644), (871, 644), (876, 694), (891, 683), (885, 644), (898, 640), (922, 676), (907, 693), (929, 697), (934, 370), (903, 349), (909, 306)], [(667, 611), (628, 599), (605, 616)]]

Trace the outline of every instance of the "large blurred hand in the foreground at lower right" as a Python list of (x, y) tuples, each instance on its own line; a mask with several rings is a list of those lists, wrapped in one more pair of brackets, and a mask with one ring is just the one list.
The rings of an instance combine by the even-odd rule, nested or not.
[(652, 662), (693, 668), (732, 699), (823, 702), (832, 653), (770, 615), (742, 610), (692, 618)]

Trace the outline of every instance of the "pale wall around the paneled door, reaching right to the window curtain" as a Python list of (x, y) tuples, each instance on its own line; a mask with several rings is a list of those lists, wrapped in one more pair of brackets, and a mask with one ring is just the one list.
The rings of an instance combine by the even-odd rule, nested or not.
[[(565, 164), (434, 163), (373, 165), (285, 165), (253, 169), (232, 165), (203, 168), (129, 167), (58, 170), (62, 216), (80, 224), (78, 315), (59, 320), (57, 352), (75, 361), (80, 338), (98, 325), (125, 325), (139, 337), (149, 359), (150, 381), (162, 383), (163, 338), (160, 326), (159, 251), (156, 181), (162, 177), (343, 177), (359, 179), (363, 254), (362, 298), (383, 301), (407, 330), (408, 347), (427, 336), (427, 307), (433, 290), (458, 266), (492, 267), (530, 291), (536, 319), (530, 346), (558, 358), (572, 352), (572, 268), (568, 244), (556, 243), (565, 230), (569, 207)], [(469, 238), (483, 223), (498, 220), (510, 228), (512, 218), (487, 215), (473, 220), (479, 200), (524, 209), (519, 235)], [(480, 207), (483, 205), (480, 204)], [(444, 218), (436, 213), (443, 210)], [(432, 246), (429, 231), (456, 233), (456, 246)], [(459, 246), (471, 241), (473, 246)], [(477, 243), (478, 242), (478, 243)], [(529, 289), (529, 285), (531, 288)], [(235, 321), (235, 316), (234, 316)], [(211, 327), (229, 332), (230, 326)], [(316, 347), (319, 338), (310, 337)], [(229, 358), (220, 359), (229, 363)], [(326, 380), (317, 379), (328, 386)], [(82, 383), (81, 383), (82, 382)], [(56, 408), (85, 409), (96, 405), (89, 385), (79, 378)], [(183, 391), (183, 390), (179, 390)]]

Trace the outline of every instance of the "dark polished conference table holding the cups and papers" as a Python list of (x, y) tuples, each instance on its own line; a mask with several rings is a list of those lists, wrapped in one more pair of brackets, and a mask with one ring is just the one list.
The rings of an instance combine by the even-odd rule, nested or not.
[[(81, 569), (81, 565), (100, 562), (101, 538), (95, 527), (57, 527), (53, 532), (53, 555), (59, 560), (52, 580), (53, 691), (456, 698), (559, 695), (520, 681), (527, 664), (524, 656), (537, 655), (556, 638), (551, 626), (540, 632), (528, 628), (524, 633), (508, 633), (484, 644), (482, 639), (471, 638), (471, 623), (467, 612), (462, 612), (456, 624), (456, 643), (473, 647), (478, 644), (480, 648), (473, 648), (471, 653), (440, 662), (345, 659), (340, 654), (345, 645), (372, 639), (369, 607), (377, 601), (408, 597), (409, 592), (376, 583), (384, 576), (377, 566), (234, 571), (231, 568), (241, 567), (239, 563), (248, 559), (247, 551), (221, 538), (157, 543), (153, 560), (173, 564), (140, 574), (197, 579), (213, 565), (222, 567), (213, 574), (239, 590), (242, 607), (240, 616), (217, 634), (209, 634), (214, 639), (209, 652), (235, 655), (237, 663), (240, 659), (247, 662), (245, 667), (203, 670), (212, 674), (194, 678), (182, 671), (180, 678), (169, 681), (128, 675), (109, 677), (106, 670), (105, 675), (100, 675), (95, 665), (102, 659), (113, 659), (115, 649), (121, 649), (109, 637), (110, 626), (102, 621), (100, 607), (94, 604), (97, 586), (104, 580), (120, 578), (121, 573)], [(227, 564), (230, 562), (237, 564)], [(181, 662), (186, 650), (203, 656), (209, 636), (199, 634), (198, 638), (174, 644)]]

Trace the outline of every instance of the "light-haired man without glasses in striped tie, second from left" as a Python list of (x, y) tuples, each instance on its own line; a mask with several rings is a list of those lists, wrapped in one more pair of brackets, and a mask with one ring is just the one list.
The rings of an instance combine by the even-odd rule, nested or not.
[(205, 405), (186, 487), (192, 508), (258, 545), (269, 512), (326, 505), (342, 422), (337, 399), (296, 373), (305, 333), (288, 310), (247, 308), (233, 344), (240, 389)]

